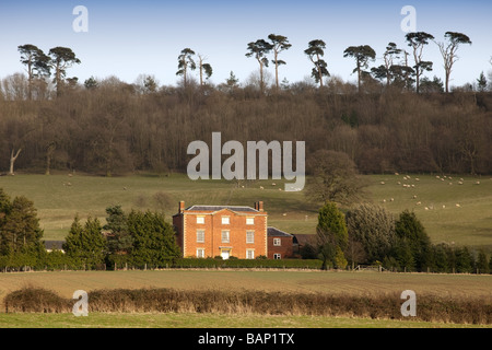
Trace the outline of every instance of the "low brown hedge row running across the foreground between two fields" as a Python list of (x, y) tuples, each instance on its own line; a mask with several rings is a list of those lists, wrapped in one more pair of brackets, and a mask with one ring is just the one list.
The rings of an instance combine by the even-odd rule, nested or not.
[[(24, 288), (4, 299), (8, 313), (71, 313), (75, 300), (52, 291)], [(89, 293), (89, 316), (98, 313), (220, 313), (261, 315), (353, 316), (409, 319), (398, 293), (380, 295), (267, 292), (254, 290), (116, 289)], [(419, 295), (410, 319), (492, 324), (491, 300)]]

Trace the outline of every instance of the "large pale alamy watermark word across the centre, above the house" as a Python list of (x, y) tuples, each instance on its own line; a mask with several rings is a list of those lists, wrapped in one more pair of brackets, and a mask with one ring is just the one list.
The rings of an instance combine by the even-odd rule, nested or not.
[[(271, 178), (295, 180), (286, 183), (286, 191), (298, 191), (305, 185), (305, 142), (295, 142), (295, 171), (293, 168), (293, 142), (247, 141), (246, 152), (239, 141), (222, 144), (221, 132), (212, 132), (212, 150), (204, 141), (189, 143), (187, 154), (195, 154), (188, 163), (190, 179), (268, 179), (271, 159)], [(197, 154), (198, 153), (198, 154)], [(270, 158), (271, 154), (271, 158)], [(222, 155), (231, 155), (222, 163)], [(258, 156), (257, 156), (258, 155)], [(210, 162), (211, 160), (211, 162)], [(211, 163), (211, 166), (210, 166)], [(210, 172), (211, 170), (211, 172)]]

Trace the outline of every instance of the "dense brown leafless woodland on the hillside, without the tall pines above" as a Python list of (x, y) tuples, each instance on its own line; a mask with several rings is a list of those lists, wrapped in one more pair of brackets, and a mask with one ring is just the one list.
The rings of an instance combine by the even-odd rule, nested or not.
[[(347, 153), (361, 173), (492, 174), (492, 94), (411, 93), (337, 79), (294, 83), (162, 86), (142, 91), (116, 78), (28, 101), (0, 95), (0, 170), (102, 175), (185, 172), (194, 140), (306, 141)], [(24, 82), (24, 84), (22, 83)], [(1, 98), (3, 96), (3, 98)], [(15, 155), (17, 155), (15, 158)]]

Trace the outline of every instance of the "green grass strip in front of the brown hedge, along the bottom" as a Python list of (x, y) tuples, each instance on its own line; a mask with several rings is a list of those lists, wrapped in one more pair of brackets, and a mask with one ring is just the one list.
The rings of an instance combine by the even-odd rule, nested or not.
[(196, 313), (0, 314), (0, 328), (492, 328), (356, 317), (219, 315)]

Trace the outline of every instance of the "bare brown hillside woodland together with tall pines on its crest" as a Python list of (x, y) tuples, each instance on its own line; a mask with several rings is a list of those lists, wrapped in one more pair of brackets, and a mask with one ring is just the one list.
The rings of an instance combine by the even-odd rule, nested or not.
[[(312, 80), (279, 80), (291, 49), (285, 36), (271, 34), (247, 45), (258, 74), (239, 83), (234, 73), (212, 84), (213, 68), (185, 48), (178, 56), (177, 86), (159, 85), (151, 75), (134, 84), (116, 77), (80, 84), (68, 70), (81, 63), (67, 47), (46, 55), (35, 45), (19, 46), (27, 75), (0, 83), (0, 168), (50, 174), (52, 170), (92, 174), (185, 172), (195, 140), (305, 140), (306, 154), (345, 153), (361, 173), (492, 173), (492, 95), (484, 74), (473, 85), (448, 91), (457, 50), (471, 43), (447, 32), (443, 43), (424, 32), (406, 36), (410, 52), (389, 43), (384, 63), (368, 69), (368, 45), (344, 51), (354, 59), (356, 84), (329, 74), (326, 43), (308, 43)], [(438, 45), (445, 83), (426, 79), (433, 62), (425, 47)], [(197, 58), (198, 57), (198, 58)], [(409, 57), (413, 57), (410, 62)], [(274, 82), (266, 68), (274, 66)], [(199, 83), (191, 71), (199, 71)], [(52, 75), (52, 79), (51, 79)], [(317, 83), (317, 84), (316, 84)], [(413, 93), (418, 92), (418, 93)]]

